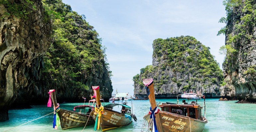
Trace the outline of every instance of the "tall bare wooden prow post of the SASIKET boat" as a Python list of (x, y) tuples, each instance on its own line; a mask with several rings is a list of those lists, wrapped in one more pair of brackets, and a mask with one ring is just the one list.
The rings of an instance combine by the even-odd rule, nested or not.
[[(155, 107), (157, 106), (156, 104), (156, 98), (155, 98), (155, 90), (154, 90), (154, 82), (152, 82), (152, 84), (148, 85), (148, 88), (149, 88), (149, 102), (150, 102), (150, 105), (151, 105), (151, 109), (155, 109)], [(157, 124), (157, 130), (159, 132), (163, 132), (163, 129), (162, 129), (162, 123), (161, 123), (161, 120), (160, 120), (160, 115), (159, 114), (156, 114), (156, 124)]]

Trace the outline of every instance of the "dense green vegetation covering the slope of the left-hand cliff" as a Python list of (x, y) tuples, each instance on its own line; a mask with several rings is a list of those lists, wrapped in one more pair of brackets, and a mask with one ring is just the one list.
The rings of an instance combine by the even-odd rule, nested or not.
[[(87, 89), (90, 79), (101, 79), (105, 61), (105, 47), (93, 26), (61, 0), (43, 0), (45, 13), (53, 20), (51, 47), (44, 56), (44, 79), (59, 87)], [(98, 77), (96, 77), (98, 76)]]

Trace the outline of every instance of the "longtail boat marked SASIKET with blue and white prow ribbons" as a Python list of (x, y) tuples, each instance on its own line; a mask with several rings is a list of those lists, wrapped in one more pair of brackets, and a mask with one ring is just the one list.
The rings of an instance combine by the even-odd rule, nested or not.
[[(162, 103), (158, 109), (155, 100), (153, 79), (144, 79), (147, 95), (150, 101), (149, 114), (143, 118), (149, 123), (149, 130), (155, 132), (201, 132), (208, 122), (205, 118), (205, 99), (203, 95), (195, 93), (180, 94), (186, 99), (195, 99), (191, 104)], [(202, 106), (197, 104), (197, 99), (204, 99), (204, 115), (201, 115)], [(185, 100), (186, 102), (186, 100)]]

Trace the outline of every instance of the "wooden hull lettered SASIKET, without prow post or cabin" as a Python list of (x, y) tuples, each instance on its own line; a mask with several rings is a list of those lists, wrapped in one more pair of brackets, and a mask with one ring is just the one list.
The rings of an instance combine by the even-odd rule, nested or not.
[[(162, 132), (201, 132), (208, 122), (207, 119), (199, 120), (164, 111), (159, 111), (158, 114), (160, 116)], [(149, 122), (150, 115), (145, 115), (144, 119)]]

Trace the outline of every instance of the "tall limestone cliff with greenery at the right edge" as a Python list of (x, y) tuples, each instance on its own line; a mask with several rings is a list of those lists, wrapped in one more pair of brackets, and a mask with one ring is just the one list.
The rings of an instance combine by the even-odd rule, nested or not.
[[(235, 1), (227, 10), (226, 48), (221, 96), (256, 102), (255, 0)], [(231, 50), (233, 49), (233, 50)]]

